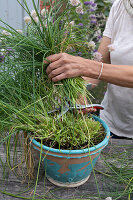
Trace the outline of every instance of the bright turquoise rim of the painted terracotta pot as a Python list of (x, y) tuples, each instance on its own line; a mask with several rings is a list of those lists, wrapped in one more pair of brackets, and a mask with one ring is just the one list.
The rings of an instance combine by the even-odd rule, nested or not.
[[(63, 154), (83, 154), (83, 153), (93, 152), (93, 151), (96, 151), (96, 150), (97, 150), (97, 152), (101, 151), (108, 144), (108, 141), (109, 141), (109, 138), (110, 138), (110, 129), (109, 129), (108, 125), (102, 119), (100, 119), (99, 117), (94, 116), (94, 115), (92, 117), (96, 121), (99, 121), (103, 125), (105, 132), (107, 133), (104, 140), (102, 142), (100, 142), (99, 144), (97, 144), (93, 147), (90, 147), (90, 148), (80, 149), (80, 150), (55, 149), (55, 148), (48, 147), (48, 146), (45, 146), (45, 145), (42, 145), (42, 149), (45, 149), (46, 151), (53, 152), (53, 153), (63, 153)], [(31, 138), (30, 138), (30, 141), (34, 145), (36, 145), (37, 147), (41, 148), (40, 142), (37, 142), (35, 139), (31, 139)]]

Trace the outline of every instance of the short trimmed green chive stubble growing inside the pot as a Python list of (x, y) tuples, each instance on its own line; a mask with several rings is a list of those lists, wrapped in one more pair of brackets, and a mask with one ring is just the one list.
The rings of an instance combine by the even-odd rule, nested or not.
[[(27, 126), (18, 123), (17, 130), (27, 130)], [(105, 137), (99, 122), (79, 113), (73, 116), (69, 112), (63, 119), (56, 120), (40, 114), (35, 125), (28, 125), (28, 130), (33, 133), (33, 138), (43, 140), (43, 144), (50, 144), (59, 149), (88, 148), (100, 143)]]

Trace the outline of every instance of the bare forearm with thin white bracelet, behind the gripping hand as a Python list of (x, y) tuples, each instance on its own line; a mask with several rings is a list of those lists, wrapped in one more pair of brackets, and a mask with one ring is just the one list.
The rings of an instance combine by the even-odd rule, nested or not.
[[(90, 64), (89, 61), (88, 72), (85, 73), (91, 78), (98, 79), (100, 71), (101, 63), (91, 61)], [(133, 66), (104, 63), (100, 80), (122, 87), (133, 88)]]

